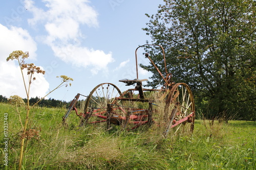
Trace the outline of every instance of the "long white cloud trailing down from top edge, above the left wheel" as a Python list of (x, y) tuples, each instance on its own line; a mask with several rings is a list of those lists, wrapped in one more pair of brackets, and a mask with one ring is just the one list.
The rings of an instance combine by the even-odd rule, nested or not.
[[(32, 0), (25, 0), (26, 9), (32, 12), (31, 25), (44, 25), (47, 35), (44, 42), (51, 46), (55, 56), (77, 67), (90, 67), (92, 74), (106, 70), (114, 61), (112, 53), (80, 45), (84, 35), (82, 25), (98, 27), (98, 13), (87, 0), (44, 0), (46, 8), (37, 8)], [(39, 14), (38, 14), (39, 13)]]

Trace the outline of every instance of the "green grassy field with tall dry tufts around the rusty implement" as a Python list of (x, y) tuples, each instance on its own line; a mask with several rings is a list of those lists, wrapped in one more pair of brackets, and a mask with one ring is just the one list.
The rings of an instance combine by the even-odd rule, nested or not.
[[(0, 103), (0, 110), (0, 169), (17, 169), (22, 128), (11, 105)], [(24, 120), (26, 110), (20, 111)], [(65, 112), (64, 108), (31, 110), (23, 169), (256, 169), (255, 122), (216, 121), (209, 126), (208, 120), (196, 120), (192, 135), (170, 132), (164, 138), (155, 125), (132, 132), (105, 131), (105, 125), (78, 128), (75, 114), (66, 129), (61, 123)], [(8, 152), (4, 115), (8, 115)]]

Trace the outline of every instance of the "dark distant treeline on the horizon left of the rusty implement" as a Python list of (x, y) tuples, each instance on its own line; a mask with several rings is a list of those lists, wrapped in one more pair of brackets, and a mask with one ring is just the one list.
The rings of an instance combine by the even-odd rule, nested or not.
[[(27, 102), (27, 99), (23, 99), (24, 102)], [(37, 96), (35, 98), (30, 98), (29, 103), (30, 105), (34, 105), (36, 102), (38, 102), (40, 98)], [(8, 103), (8, 98), (6, 96), (0, 95), (0, 102)], [(71, 101), (70, 101), (71, 102)], [(60, 101), (55, 99), (42, 99), (37, 105), (40, 107), (68, 107), (70, 105), (70, 102), (66, 101)]]

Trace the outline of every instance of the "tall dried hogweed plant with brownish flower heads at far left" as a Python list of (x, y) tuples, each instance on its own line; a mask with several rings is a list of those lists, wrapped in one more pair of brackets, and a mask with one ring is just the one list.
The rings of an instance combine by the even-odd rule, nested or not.
[[(39, 101), (37, 101), (33, 106), (30, 106), (29, 104), (29, 93), (30, 93), (30, 88), (31, 88), (31, 84), (32, 81), (36, 80), (34, 74), (43, 74), (45, 75), (45, 71), (42, 70), (40, 67), (35, 66), (34, 63), (25, 63), (25, 59), (29, 57), (29, 53), (28, 52), (23, 52), (23, 51), (14, 51), (12, 52), (9, 57), (6, 59), (7, 61), (9, 60), (17, 60), (18, 64), (19, 64), (19, 68), (20, 71), (22, 72), (22, 79), (23, 79), (23, 83), (25, 86), (25, 91), (26, 91), (26, 95), (27, 95), (27, 103), (26, 103), (26, 118), (25, 118), (25, 123), (23, 125), (22, 123), (22, 119), (20, 118), (19, 115), (19, 110), (18, 110), (18, 101), (20, 102), (20, 99), (18, 96), (11, 96), (11, 102), (16, 102), (16, 111), (19, 115), (19, 120), (20, 120), (20, 124), (22, 125), (23, 128), (23, 134), (22, 134), (22, 138), (21, 138), (21, 144), (20, 144), (20, 153), (19, 153), (19, 168), (22, 168), (22, 162), (23, 162), (23, 157), (24, 157), (24, 153), (26, 151), (26, 147), (24, 147), (24, 142), (25, 142), (25, 138), (26, 143), (28, 142), (28, 140), (30, 139), (29, 135), (27, 135), (28, 133), (30, 133), (30, 129), (27, 130), (27, 126), (28, 126), (28, 120), (29, 120), (29, 112), (31, 110), (31, 108), (33, 108), (35, 105), (37, 105), (42, 99), (44, 99), (47, 95), (49, 95), (51, 92), (53, 92), (54, 90), (56, 90), (57, 88), (63, 86), (66, 84), (66, 87), (68, 86), (67, 82), (73, 81), (72, 78), (69, 78), (68, 76), (57, 76), (58, 78), (61, 79), (61, 83), (53, 90), (51, 90), (48, 94), (46, 94), (43, 98), (41, 98)], [(26, 84), (26, 80), (25, 80), (25, 75), (23, 70), (27, 71), (27, 75), (28, 75), (28, 85)], [(69, 84), (71, 86), (71, 83)], [(26, 144), (27, 145), (27, 144)]]

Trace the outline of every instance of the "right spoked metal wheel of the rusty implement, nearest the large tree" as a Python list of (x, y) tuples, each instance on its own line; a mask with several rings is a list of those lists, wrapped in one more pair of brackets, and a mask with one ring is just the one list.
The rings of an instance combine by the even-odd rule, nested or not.
[(174, 133), (193, 132), (195, 122), (195, 102), (193, 94), (185, 83), (177, 83), (170, 90), (166, 101), (164, 118), (167, 125), (164, 135), (167, 136), (170, 128)]

